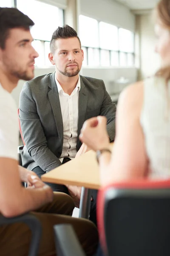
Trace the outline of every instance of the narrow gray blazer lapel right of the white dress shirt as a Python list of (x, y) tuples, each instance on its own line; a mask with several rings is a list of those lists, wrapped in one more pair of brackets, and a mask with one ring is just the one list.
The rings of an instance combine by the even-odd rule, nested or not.
[[(88, 102), (88, 93), (85, 88), (85, 84), (82, 81), (80, 76), (80, 90), (79, 90), (79, 119), (78, 119), (78, 131), (77, 131), (77, 139), (79, 138), (80, 130), (82, 128), (83, 123), (85, 122), (85, 114)], [(79, 141), (79, 140), (77, 140)]]

